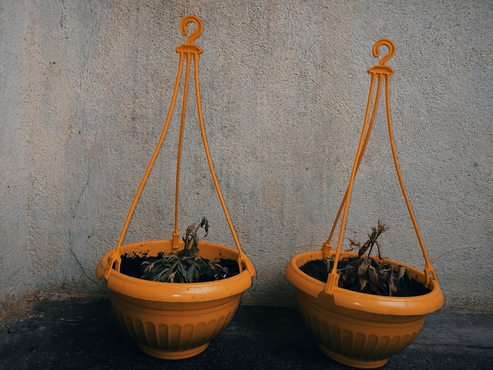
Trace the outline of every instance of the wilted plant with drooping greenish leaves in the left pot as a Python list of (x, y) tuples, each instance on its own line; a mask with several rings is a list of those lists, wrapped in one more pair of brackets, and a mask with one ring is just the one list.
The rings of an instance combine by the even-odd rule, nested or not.
[(141, 279), (167, 283), (198, 283), (204, 276), (208, 280), (220, 280), (228, 277), (228, 268), (221, 265), (221, 260), (208, 260), (199, 257), (198, 244), (199, 228), (205, 230), (204, 237), (209, 231), (209, 222), (204, 217), (196, 225), (192, 223), (182, 237), (184, 248), (174, 255), (161, 256), (154, 261), (146, 260)]

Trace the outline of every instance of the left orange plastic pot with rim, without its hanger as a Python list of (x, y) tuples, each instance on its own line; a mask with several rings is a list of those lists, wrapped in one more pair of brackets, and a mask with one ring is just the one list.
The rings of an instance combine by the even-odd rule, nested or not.
[[(238, 251), (199, 242), (199, 255), (207, 259), (238, 259)], [(102, 277), (115, 250), (100, 261), (96, 275)], [(122, 255), (172, 253), (171, 240), (122, 245)], [(253, 268), (249, 259), (246, 263)], [(241, 294), (251, 286), (251, 271), (205, 283), (147, 281), (110, 269), (107, 286), (113, 311), (122, 325), (148, 355), (183, 359), (204, 351), (211, 339), (230, 322)]]

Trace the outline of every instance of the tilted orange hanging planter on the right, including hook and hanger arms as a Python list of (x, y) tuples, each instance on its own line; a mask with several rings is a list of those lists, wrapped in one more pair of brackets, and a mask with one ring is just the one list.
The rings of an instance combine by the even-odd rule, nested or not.
[[(379, 65), (368, 70), (368, 73), (371, 74), (371, 85), (363, 130), (354, 159), (350, 182), (329, 237), (322, 245), (321, 250), (300, 253), (294, 256), (285, 269), (286, 277), (296, 287), (296, 296), (301, 315), (309, 330), (315, 336), (318, 347), (333, 360), (361, 369), (373, 369), (385, 365), (390, 356), (402, 351), (418, 336), (423, 327), (426, 314), (438, 310), (443, 305), (443, 293), (436, 280), (434, 269), (428, 260), (418, 225), (404, 188), (393, 143), (388, 86), (390, 75), (394, 71), (385, 63), (393, 56), (395, 46), (391, 40), (382, 38), (373, 46), (373, 56), (379, 56), (379, 47), (382, 45), (387, 46), (388, 53), (382, 58)], [(373, 127), (384, 79), (387, 125), (395, 169), (409, 215), (421, 245), (425, 267), (423, 271), (420, 271), (398, 261), (389, 259), (382, 259), (382, 261), (388, 262), (392, 266), (403, 267), (407, 270), (412, 280), (426, 287), (428, 293), (420, 296), (379, 296), (355, 292), (339, 286), (338, 262), (343, 259), (359, 258), (358, 253), (341, 252), (341, 244), (353, 180)], [(370, 116), (375, 80), (378, 80), (377, 92), (373, 104), (373, 112)], [(337, 248), (332, 250), (330, 241), (341, 213), (342, 221)], [(333, 259), (332, 269), (329, 271), (326, 282), (321, 282), (300, 269), (307, 262), (323, 260), (326, 256), (332, 256)], [(378, 256), (368, 256), (368, 258), (370, 257), (379, 259)]]

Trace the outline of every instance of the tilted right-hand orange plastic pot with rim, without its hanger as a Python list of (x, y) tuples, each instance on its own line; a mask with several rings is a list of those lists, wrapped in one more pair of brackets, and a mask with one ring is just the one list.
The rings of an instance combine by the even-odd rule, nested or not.
[[(372, 369), (385, 365), (418, 336), (426, 314), (438, 310), (443, 294), (431, 280), (431, 292), (423, 296), (389, 297), (352, 292), (335, 287), (325, 292), (325, 283), (310, 277), (300, 266), (323, 259), (323, 251), (294, 256), (286, 266), (286, 276), (296, 287), (296, 298), (303, 321), (327, 356), (344, 365)], [(357, 253), (342, 252), (341, 258)], [(423, 271), (408, 268), (411, 278), (425, 283)]]

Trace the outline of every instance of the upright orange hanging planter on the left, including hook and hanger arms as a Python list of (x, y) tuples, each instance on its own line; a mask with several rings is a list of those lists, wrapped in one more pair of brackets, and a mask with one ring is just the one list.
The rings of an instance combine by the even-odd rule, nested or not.
[[(104, 277), (107, 280), (111, 305), (120, 324), (136, 339), (143, 352), (162, 359), (184, 359), (204, 351), (211, 339), (228, 325), (240, 304), (241, 294), (251, 286), (251, 279), (255, 277), (255, 268), (242, 251), (212, 166), (199, 97), (198, 58), (202, 49), (194, 44), (195, 39), (202, 33), (202, 22), (193, 15), (184, 17), (180, 22), (180, 32), (183, 36), (187, 35), (186, 26), (189, 23), (194, 23), (196, 30), (188, 37), (185, 44), (176, 48), (180, 58), (178, 74), (171, 107), (161, 137), (134, 198), (118, 244), (115, 249), (103, 256), (96, 268), (96, 277), (98, 279)], [(120, 272), (122, 257), (126, 255), (140, 257), (158, 256), (158, 254), (168, 255), (176, 253), (184, 245), (179, 238), (177, 226), (178, 195), (187, 86), (192, 60), (194, 63), (197, 110), (204, 148), (212, 180), (237, 247), (235, 250), (223, 245), (200, 241), (198, 243), (198, 255), (210, 260), (236, 260), (240, 272), (223, 280), (200, 283), (165, 283), (131, 277)], [(185, 87), (176, 164), (175, 230), (169, 240), (147, 240), (122, 245), (143, 186), (168, 130), (184, 63), (186, 66)]]

